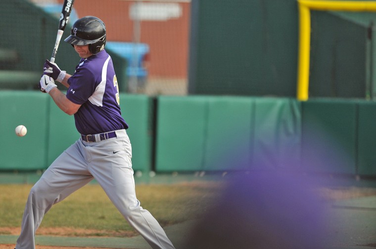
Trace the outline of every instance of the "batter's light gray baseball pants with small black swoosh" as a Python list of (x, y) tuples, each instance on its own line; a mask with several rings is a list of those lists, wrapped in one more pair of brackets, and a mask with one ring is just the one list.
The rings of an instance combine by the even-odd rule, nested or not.
[(80, 138), (47, 168), (30, 191), (16, 249), (35, 249), (35, 232), (45, 213), (94, 178), (151, 248), (174, 249), (157, 220), (140, 206), (129, 137), (124, 129), (117, 130), (116, 135), (91, 143)]

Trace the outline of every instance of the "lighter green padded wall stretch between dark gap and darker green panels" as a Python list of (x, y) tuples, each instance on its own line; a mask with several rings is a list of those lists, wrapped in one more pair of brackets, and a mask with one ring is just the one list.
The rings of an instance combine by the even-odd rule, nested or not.
[(159, 97), (156, 170), (296, 168), (300, 124), (295, 99)]

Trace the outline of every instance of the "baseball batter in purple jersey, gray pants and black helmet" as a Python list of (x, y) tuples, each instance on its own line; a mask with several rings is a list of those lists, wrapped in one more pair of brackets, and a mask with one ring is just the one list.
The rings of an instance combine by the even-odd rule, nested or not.
[[(94, 16), (80, 18), (65, 42), (81, 57), (75, 73), (69, 75), (46, 60), (40, 88), (62, 111), (74, 115), (82, 135), (32, 187), (16, 249), (35, 249), (35, 232), (45, 213), (94, 178), (153, 249), (174, 249), (157, 220), (136, 198), (128, 124), (121, 116), (112, 60), (104, 49), (104, 23)], [(56, 88), (54, 80), (68, 87), (66, 94)]]

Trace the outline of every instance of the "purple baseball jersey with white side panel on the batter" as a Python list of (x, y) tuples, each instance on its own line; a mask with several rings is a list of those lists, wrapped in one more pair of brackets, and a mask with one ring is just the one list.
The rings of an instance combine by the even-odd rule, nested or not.
[(89, 135), (128, 128), (121, 116), (112, 59), (105, 50), (81, 59), (68, 84), (67, 98), (81, 105), (74, 114), (78, 132)]

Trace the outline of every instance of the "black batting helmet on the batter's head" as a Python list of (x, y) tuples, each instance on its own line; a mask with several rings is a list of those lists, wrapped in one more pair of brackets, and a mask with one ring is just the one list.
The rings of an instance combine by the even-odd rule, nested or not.
[(71, 35), (64, 42), (74, 45), (88, 45), (92, 54), (99, 53), (106, 44), (106, 27), (95, 16), (78, 19), (72, 26)]

